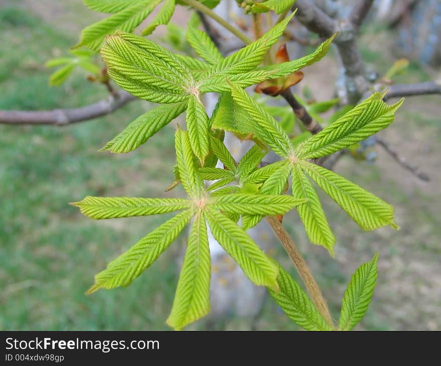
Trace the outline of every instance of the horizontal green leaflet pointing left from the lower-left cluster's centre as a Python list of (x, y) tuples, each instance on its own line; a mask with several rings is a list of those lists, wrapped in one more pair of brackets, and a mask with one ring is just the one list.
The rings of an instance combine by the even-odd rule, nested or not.
[(91, 219), (102, 220), (166, 214), (188, 209), (191, 203), (183, 199), (87, 196), (72, 205), (79, 207), (83, 215)]

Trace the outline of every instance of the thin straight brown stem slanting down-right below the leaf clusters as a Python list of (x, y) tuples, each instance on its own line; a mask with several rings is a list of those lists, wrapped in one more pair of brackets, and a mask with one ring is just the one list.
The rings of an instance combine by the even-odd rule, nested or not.
[(308, 291), (309, 296), (311, 296), (311, 300), (316, 306), (317, 310), (320, 312), (320, 314), (322, 314), (323, 318), (328, 322), (329, 325), (334, 326), (326, 300), (323, 297), (322, 291), (317, 285), (311, 270), (306, 264), (305, 259), (303, 259), (291, 237), (288, 235), (287, 231), (277, 220), (277, 218), (274, 216), (267, 216), (266, 219), (293, 261), (300, 277), (302, 277), (306, 290)]

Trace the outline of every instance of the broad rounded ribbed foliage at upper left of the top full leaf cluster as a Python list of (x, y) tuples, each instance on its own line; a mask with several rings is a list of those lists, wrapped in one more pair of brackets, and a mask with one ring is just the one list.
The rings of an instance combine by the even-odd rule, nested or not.
[(128, 33), (106, 38), (101, 56), (110, 77), (138, 98), (157, 103), (188, 100), (191, 75), (178, 58), (150, 40)]

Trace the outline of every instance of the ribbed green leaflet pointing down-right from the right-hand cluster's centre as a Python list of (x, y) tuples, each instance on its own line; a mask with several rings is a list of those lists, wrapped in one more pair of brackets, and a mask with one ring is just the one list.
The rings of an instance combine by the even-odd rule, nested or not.
[(374, 230), (386, 225), (398, 229), (393, 221), (393, 207), (388, 203), (331, 170), (307, 161), (300, 163), (317, 185), (363, 230)]

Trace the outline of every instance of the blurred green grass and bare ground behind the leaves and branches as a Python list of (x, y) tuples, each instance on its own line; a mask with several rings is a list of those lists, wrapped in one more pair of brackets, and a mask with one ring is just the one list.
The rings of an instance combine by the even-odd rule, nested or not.
[[(44, 67), (48, 59), (66, 55), (81, 29), (99, 17), (81, 0), (0, 0), (0, 109), (76, 107), (104, 98), (105, 88), (88, 82), (81, 72), (61, 87), (49, 87), (51, 70)], [(176, 14), (174, 20), (185, 16)], [(403, 42), (406, 36), (399, 28), (390, 30), (372, 19), (367, 23), (360, 40), (362, 55), (382, 75), (402, 56), (399, 39)], [(441, 28), (433, 32), (439, 37)], [(416, 37), (414, 32), (408, 36)], [(418, 57), (397, 82), (433, 79), (436, 69), (422, 65)], [(318, 99), (329, 98), (337, 73), (331, 52), (305, 69), (302, 83)], [(167, 329), (183, 239), (128, 288), (86, 296), (93, 276), (163, 218), (97, 222), (68, 205), (86, 195), (183, 194), (181, 188), (164, 193), (173, 180), (171, 125), (129, 154), (97, 152), (149, 108), (147, 102), (133, 102), (114, 114), (61, 128), (0, 125), (0, 329)], [(430, 176), (429, 182), (418, 180), (379, 147), (375, 164), (345, 157), (335, 167), (392, 203), (400, 231), (383, 228), (364, 233), (323, 196), (337, 237), (332, 259), (324, 249), (308, 243), (296, 213), (284, 218), (336, 318), (351, 273), (380, 252), (377, 288), (358, 329), (441, 329), (440, 115), (439, 96), (407, 98), (396, 121), (381, 132)], [(282, 248), (276, 256), (290, 268)], [(190, 329), (204, 327), (200, 321)], [(297, 329), (270, 299), (255, 319), (231, 316), (214, 320), (210, 327)]]

